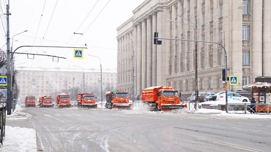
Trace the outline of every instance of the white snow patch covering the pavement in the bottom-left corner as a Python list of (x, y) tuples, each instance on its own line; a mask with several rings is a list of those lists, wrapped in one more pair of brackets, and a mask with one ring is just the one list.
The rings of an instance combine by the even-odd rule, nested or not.
[(6, 126), (5, 140), (0, 147), (2, 151), (37, 151), (36, 130)]

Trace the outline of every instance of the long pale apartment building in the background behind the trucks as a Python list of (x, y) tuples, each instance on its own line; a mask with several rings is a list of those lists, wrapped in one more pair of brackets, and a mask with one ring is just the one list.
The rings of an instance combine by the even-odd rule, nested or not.
[[(38, 100), (39, 97), (45, 95), (55, 97), (56, 93), (76, 92), (75, 94), (77, 94), (83, 93), (83, 90), (85, 93), (95, 93), (97, 99), (101, 100), (100, 70), (26, 67), (17, 67), (16, 70), (18, 71), (16, 74), (18, 100), (21, 102), (27, 95), (34, 95)], [(103, 100), (105, 100), (105, 92), (116, 88), (116, 71), (102, 70), (102, 79)], [(73, 97), (72, 100), (76, 100), (76, 98)]]

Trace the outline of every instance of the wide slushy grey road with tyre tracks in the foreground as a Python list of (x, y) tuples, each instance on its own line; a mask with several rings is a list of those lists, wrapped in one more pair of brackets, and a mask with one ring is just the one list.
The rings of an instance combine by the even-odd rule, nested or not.
[(269, 151), (270, 120), (139, 110), (23, 108), (40, 151)]

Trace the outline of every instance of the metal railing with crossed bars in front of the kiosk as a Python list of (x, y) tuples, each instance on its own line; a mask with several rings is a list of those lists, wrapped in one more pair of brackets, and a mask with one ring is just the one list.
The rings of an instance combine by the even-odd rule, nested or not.
[(270, 104), (250, 104), (250, 103), (228, 103), (228, 113), (262, 113), (270, 114), (271, 105)]

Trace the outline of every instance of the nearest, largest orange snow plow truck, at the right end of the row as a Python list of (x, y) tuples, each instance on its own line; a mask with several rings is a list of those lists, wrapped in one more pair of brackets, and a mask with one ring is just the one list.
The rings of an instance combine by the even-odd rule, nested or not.
[(154, 111), (166, 111), (176, 108), (183, 108), (180, 104), (178, 91), (172, 87), (149, 87), (142, 90), (143, 107)]

